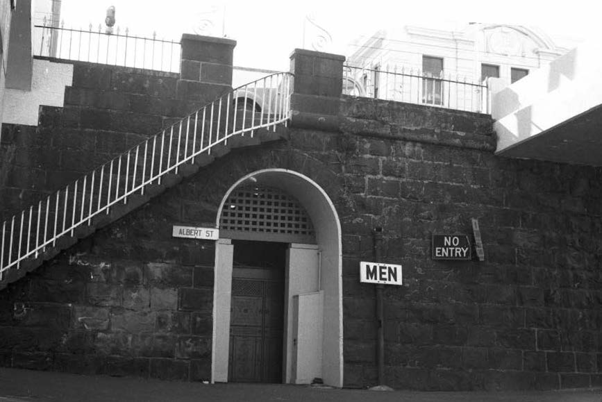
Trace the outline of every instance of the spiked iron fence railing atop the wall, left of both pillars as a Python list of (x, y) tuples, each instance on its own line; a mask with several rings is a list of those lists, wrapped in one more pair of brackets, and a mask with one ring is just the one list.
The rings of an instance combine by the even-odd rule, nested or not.
[(128, 28), (120, 33), (119, 27), (115, 33), (92, 30), (35, 25), (33, 30), (33, 54), (60, 58), (96, 62), (122, 67), (154, 69), (165, 72), (180, 71), (180, 42), (160, 40), (153, 37), (129, 35)]

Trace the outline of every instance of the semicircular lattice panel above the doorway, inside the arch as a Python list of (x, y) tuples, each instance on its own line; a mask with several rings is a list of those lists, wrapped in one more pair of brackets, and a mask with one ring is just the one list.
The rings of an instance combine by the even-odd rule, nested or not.
[(315, 235), (299, 201), (271, 187), (234, 190), (226, 200), (219, 224), (224, 231)]

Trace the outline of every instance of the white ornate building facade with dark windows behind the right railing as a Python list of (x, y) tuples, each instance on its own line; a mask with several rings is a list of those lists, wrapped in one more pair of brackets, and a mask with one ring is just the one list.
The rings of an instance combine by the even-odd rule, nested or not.
[(469, 24), (462, 31), (378, 31), (347, 57), (345, 92), (489, 112), (486, 79), (510, 85), (567, 52), (533, 28)]

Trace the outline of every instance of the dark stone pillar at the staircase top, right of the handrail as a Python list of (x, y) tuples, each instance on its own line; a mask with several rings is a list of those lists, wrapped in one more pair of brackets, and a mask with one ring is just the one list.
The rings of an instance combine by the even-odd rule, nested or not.
[(293, 126), (337, 130), (345, 56), (295, 49), (290, 56)]

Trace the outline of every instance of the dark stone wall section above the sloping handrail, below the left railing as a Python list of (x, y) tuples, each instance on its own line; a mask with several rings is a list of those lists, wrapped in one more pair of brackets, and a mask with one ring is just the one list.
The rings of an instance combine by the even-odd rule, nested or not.
[(73, 84), (65, 87), (63, 107), (40, 106), (37, 126), (2, 125), (0, 221), (231, 89), (173, 73), (87, 62), (69, 65)]

